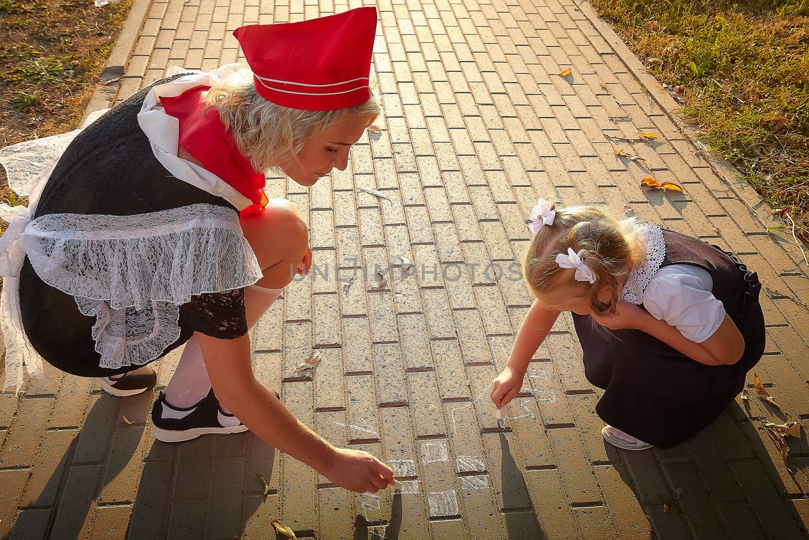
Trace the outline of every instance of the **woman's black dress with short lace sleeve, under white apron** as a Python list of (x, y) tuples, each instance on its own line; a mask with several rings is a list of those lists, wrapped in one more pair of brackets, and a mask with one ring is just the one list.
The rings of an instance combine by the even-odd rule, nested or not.
[[(172, 79), (176, 77), (162, 79), (154, 84), (166, 83)], [(212, 242), (211, 238), (222, 237), (216, 236), (222, 231), (209, 236), (205, 240), (208, 244), (200, 244), (199, 238), (204, 235), (197, 236), (197, 232), (205, 231), (193, 227), (189, 229), (190, 232), (184, 232), (186, 234), (184, 241), (192, 249), (209, 249), (209, 257), (214, 260), (226, 251), (231, 256), (235, 253), (235, 257), (238, 258), (239, 249), (242, 248), (239, 242), (244, 244), (246, 240), (238, 227), (238, 213), (235, 207), (224, 198), (207, 193), (172, 176), (155, 158), (149, 139), (138, 125), (138, 113), (150, 87), (144, 88), (112, 108), (70, 142), (51, 173), (36, 206), (36, 214), (32, 218), (61, 214), (146, 215), (145, 219), (138, 219), (141, 219), (141, 223), (148, 224), (151, 221), (149, 215), (164, 217), (166, 211), (180, 209), (178, 211), (181, 212), (184, 208), (202, 209), (207, 217), (215, 216), (215, 219), (221, 220), (222, 215), (225, 215), (224, 219), (235, 219), (237, 223), (235, 229), (238, 230), (225, 231), (229, 235), (226, 243), (231, 245), (222, 247)], [(151, 214), (155, 212), (163, 214)], [(126, 219), (129, 218), (124, 218), (124, 223), (128, 223)], [(184, 219), (188, 219), (188, 216), (186, 215)], [(144, 241), (148, 242), (150, 239)], [(146, 251), (151, 254), (150, 256), (154, 255), (154, 250)], [(183, 253), (159, 253), (159, 257), (182, 255)], [(252, 251), (249, 255), (252, 256)], [(129, 253), (128, 256), (137, 262), (138, 253)], [(129, 335), (132, 332), (124, 326), (124, 335), (117, 338), (131, 338), (135, 343), (130, 347), (129, 364), (119, 368), (100, 367), (100, 331), (95, 330), (94, 325), (100, 317), (107, 317), (109, 313), (88, 315), (87, 308), (80, 309), (74, 296), (45, 283), (29, 258), (30, 253), (19, 274), (19, 309), (23, 327), (36, 352), (61, 371), (77, 376), (115, 375), (159, 359), (186, 342), (195, 331), (222, 339), (237, 338), (248, 331), (244, 313), (244, 288), (204, 291), (177, 306), (179, 313), (174, 314), (173, 320), (168, 321), (169, 325), (175, 325), (174, 334), (171, 334), (168, 340), (163, 338), (163, 342), (160, 342), (163, 344), (159, 345), (161, 351), (157, 353), (154, 351), (154, 343), (151, 343), (153, 350), (148, 355), (154, 358), (137, 358), (137, 347), (140, 345), (137, 342), (141, 337)], [(181, 266), (179, 263), (172, 266), (163, 264), (164, 261), (153, 262), (153, 268), (162, 265), (169, 268), (169, 272)], [(95, 266), (99, 269), (106, 263), (107, 261), (91, 261), (88, 267)], [(227, 274), (231, 270), (235, 272), (239, 269), (233, 270), (232, 266), (213, 263), (207, 266), (205, 271)], [(244, 273), (244, 268), (241, 268), (241, 271)], [(155, 274), (151, 279), (169, 279), (169, 277)], [(241, 283), (246, 286), (255, 279), (256, 275), (252, 277), (248, 275)], [(211, 280), (215, 283), (231, 283), (228, 287), (232, 287), (233, 283), (228, 275), (222, 278), (214, 276)], [(102, 306), (107, 311), (108, 307)], [(146, 316), (148, 315), (149, 313), (146, 313)], [(116, 337), (112, 336), (110, 339), (112, 338)], [(144, 338), (148, 345), (146, 338), (149, 336)]]

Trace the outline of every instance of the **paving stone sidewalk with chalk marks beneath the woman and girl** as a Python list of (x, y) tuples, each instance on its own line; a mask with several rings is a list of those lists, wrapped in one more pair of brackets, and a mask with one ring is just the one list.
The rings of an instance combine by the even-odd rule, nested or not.
[[(94, 106), (171, 66), (244, 62), (231, 34), (242, 24), (359, 5), (134, 0), (137, 39), (105, 74), (123, 78)], [(395, 466), (404, 494), (352, 495), (249, 433), (155, 442), (153, 393), (112, 398), (51, 372), (19, 400), (0, 393), (0, 537), (268, 538), (279, 518), (321, 539), (806, 538), (806, 432), (790, 441), (790, 472), (760, 423), (809, 418), (809, 281), (791, 238), (766, 232), (756, 193), (701, 155), (671, 117), (676, 104), (587, 2), (376, 5), (382, 131), (311, 189), (269, 181), (270, 196), (309, 216), (328, 279), (287, 287), (252, 342), (260, 381), (328, 440)], [(642, 165), (618, 158), (607, 138), (637, 130), (661, 135), (616, 143)], [(686, 193), (644, 192), (650, 175)], [(531, 302), (508, 269), (532, 205), (549, 194), (606, 202), (738, 253), (765, 284), (769, 343), (756, 371), (786, 417), (739, 400), (676, 448), (605, 446), (599, 391), (565, 318), (499, 428), (487, 385)], [(380, 286), (375, 264), (401, 257), (416, 271), (397, 268)], [(336, 281), (335, 268), (347, 279), (363, 264), (367, 279)], [(422, 264), (438, 270), (422, 274)], [(493, 281), (497, 265), (505, 275)], [(313, 349), (314, 372), (295, 372)], [(158, 363), (160, 387), (176, 360)]]

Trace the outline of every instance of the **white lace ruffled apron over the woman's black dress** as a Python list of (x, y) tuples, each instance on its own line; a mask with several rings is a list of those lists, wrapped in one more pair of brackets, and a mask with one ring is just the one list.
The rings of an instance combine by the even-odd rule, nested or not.
[[(180, 305), (192, 296), (247, 287), (262, 275), (235, 210), (209, 204), (127, 216), (43, 215), (24, 227), (14, 248), (22, 253), (19, 265), (27, 255), (44, 283), (74, 296), (82, 313), (96, 317), (92, 337), (102, 368), (159, 358), (180, 335)], [(15, 301), (8, 320), (21, 331), (19, 297)], [(21, 338), (28, 365), (26, 355), (36, 351), (24, 332)], [(8, 354), (19, 347), (6, 349), (6, 385), (19, 385), (21, 362)]]

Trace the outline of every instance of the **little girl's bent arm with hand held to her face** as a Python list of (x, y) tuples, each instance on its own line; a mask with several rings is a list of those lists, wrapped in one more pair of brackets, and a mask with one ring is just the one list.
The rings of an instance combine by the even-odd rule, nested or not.
[(688, 358), (709, 366), (735, 364), (744, 352), (744, 338), (731, 317), (727, 316), (718, 330), (701, 343), (695, 343), (685, 338), (676, 327), (654, 318), (646, 310), (627, 302), (618, 302), (616, 313), (604, 317), (597, 315), (592, 317), (601, 325), (612, 330), (631, 328), (646, 332)]

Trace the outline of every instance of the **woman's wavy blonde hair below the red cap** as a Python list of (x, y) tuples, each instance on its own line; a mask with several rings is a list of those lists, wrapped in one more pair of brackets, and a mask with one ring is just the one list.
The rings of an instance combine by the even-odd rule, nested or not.
[(332, 111), (282, 107), (259, 95), (250, 70), (229, 74), (211, 87), (206, 103), (218, 109), (236, 147), (256, 171), (293, 165), (307, 138), (353, 117), (364, 117), (370, 124), (382, 113), (379, 96), (373, 92), (365, 103)]

